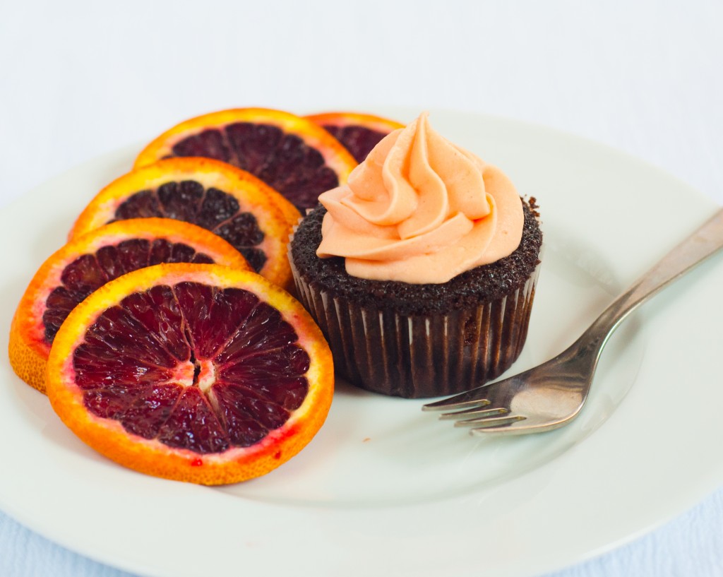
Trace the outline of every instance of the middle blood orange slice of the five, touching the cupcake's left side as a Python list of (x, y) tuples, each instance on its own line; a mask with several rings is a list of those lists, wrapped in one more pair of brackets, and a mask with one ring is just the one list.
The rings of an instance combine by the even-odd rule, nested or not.
[(145, 217), (207, 228), (241, 252), (257, 273), (291, 286), (286, 246), (301, 215), (252, 174), (208, 158), (171, 158), (138, 168), (90, 201), (70, 237), (109, 222)]

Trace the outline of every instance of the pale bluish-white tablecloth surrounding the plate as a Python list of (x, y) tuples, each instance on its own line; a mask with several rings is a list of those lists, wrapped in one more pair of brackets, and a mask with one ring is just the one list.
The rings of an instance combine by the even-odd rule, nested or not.
[[(510, 116), (723, 202), (722, 22), (713, 1), (0, 0), (0, 210), (78, 163), (237, 106)], [(721, 544), (723, 490), (555, 577), (716, 576)], [(0, 513), (0, 575), (46, 574), (127, 575)]]

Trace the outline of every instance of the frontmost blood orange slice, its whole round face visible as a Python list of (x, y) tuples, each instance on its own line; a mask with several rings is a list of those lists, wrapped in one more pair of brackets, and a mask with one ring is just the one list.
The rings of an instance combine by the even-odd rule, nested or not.
[(333, 396), (333, 363), (301, 304), (260, 275), (156, 265), (68, 315), (48, 398), (85, 443), (142, 473), (250, 479), (304, 448)]

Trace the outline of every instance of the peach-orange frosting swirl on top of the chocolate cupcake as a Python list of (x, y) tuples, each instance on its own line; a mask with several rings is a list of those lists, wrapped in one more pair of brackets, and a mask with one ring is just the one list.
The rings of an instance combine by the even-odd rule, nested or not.
[(510, 255), (522, 202), (495, 166), (437, 134), (427, 114), (388, 134), (341, 187), (319, 197), (320, 257), (378, 281), (445, 283)]

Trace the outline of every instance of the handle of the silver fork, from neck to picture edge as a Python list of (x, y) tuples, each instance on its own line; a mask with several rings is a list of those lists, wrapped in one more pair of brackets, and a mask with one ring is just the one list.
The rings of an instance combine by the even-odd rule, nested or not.
[[(672, 249), (602, 312), (570, 349), (597, 358), (609, 335), (630, 312), (723, 247), (723, 209)], [(568, 351), (570, 350), (568, 349)]]

